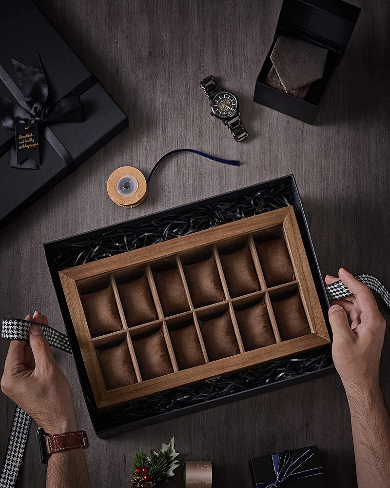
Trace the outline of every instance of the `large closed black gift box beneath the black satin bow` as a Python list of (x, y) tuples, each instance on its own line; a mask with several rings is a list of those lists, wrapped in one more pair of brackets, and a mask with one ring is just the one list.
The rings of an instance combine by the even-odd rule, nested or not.
[[(76, 91), (82, 104), (82, 122), (49, 125), (73, 158), (70, 165), (64, 163), (39, 130), (39, 168), (11, 167), (10, 142), (15, 133), (0, 126), (2, 227), (113, 139), (127, 126), (128, 120), (31, 1), (1, 3), (0, 33), (0, 64), (17, 86), (11, 59), (30, 65), (39, 55), (49, 89), (48, 102), (56, 102)], [(15, 101), (1, 79), (0, 94)]]

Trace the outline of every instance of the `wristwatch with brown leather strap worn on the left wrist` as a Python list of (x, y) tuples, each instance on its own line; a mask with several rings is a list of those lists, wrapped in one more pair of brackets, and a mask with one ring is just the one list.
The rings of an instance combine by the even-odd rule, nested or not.
[(89, 446), (85, 430), (64, 432), (62, 434), (47, 434), (42, 427), (38, 427), (37, 442), (39, 458), (43, 464), (46, 464), (49, 457), (56, 452), (69, 451), (81, 447), (86, 449)]

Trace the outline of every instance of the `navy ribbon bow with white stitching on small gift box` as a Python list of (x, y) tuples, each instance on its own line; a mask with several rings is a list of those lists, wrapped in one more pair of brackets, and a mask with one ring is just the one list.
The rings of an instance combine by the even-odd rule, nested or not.
[(283, 483), (288, 480), (300, 480), (301, 478), (309, 478), (322, 474), (322, 468), (303, 469), (298, 471), (301, 466), (306, 463), (314, 455), (312, 449), (308, 449), (298, 459), (294, 461), (291, 451), (285, 450), (282, 454), (276, 453), (272, 455), (273, 470), (275, 471), (276, 479), (272, 483), (256, 483), (257, 488), (277, 488), (281, 487)]

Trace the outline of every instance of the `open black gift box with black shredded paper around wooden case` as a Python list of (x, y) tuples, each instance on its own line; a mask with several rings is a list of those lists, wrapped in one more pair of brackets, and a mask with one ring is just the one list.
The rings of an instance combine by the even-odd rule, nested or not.
[(292, 175), (44, 244), (47, 264), (71, 344), (80, 384), (92, 424), (99, 437), (108, 437), (125, 430), (162, 422), (283, 386), (291, 386), (335, 371), (330, 347), (325, 346), (297, 355), (300, 361), (296, 361), (296, 357), (286, 358), (221, 378), (201, 381), (190, 387), (177, 387), (127, 405), (110, 407), (106, 410), (97, 409), (60, 283), (59, 271), (107, 255), (153, 244), (156, 239), (165, 241), (176, 238), (182, 233), (195, 232), (201, 228), (255, 215), (260, 213), (255, 208), (257, 203), (268, 205), (265, 210), (293, 205), (321, 308), (331, 334), (327, 319), (329, 301), (302, 202)]

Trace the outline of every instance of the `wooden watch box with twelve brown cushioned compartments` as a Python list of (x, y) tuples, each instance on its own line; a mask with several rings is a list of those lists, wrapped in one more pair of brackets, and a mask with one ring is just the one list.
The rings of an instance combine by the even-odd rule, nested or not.
[(330, 343), (292, 206), (59, 277), (98, 409)]

